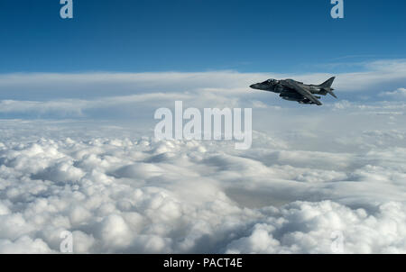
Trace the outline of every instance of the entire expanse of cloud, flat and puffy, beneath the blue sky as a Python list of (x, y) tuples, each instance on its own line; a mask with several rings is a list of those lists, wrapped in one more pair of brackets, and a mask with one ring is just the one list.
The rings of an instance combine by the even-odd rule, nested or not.
[[(322, 107), (247, 86), (327, 74), (1, 75), (0, 253), (405, 253), (406, 65), (361, 66)], [(252, 149), (155, 141), (176, 100), (252, 107)]]

